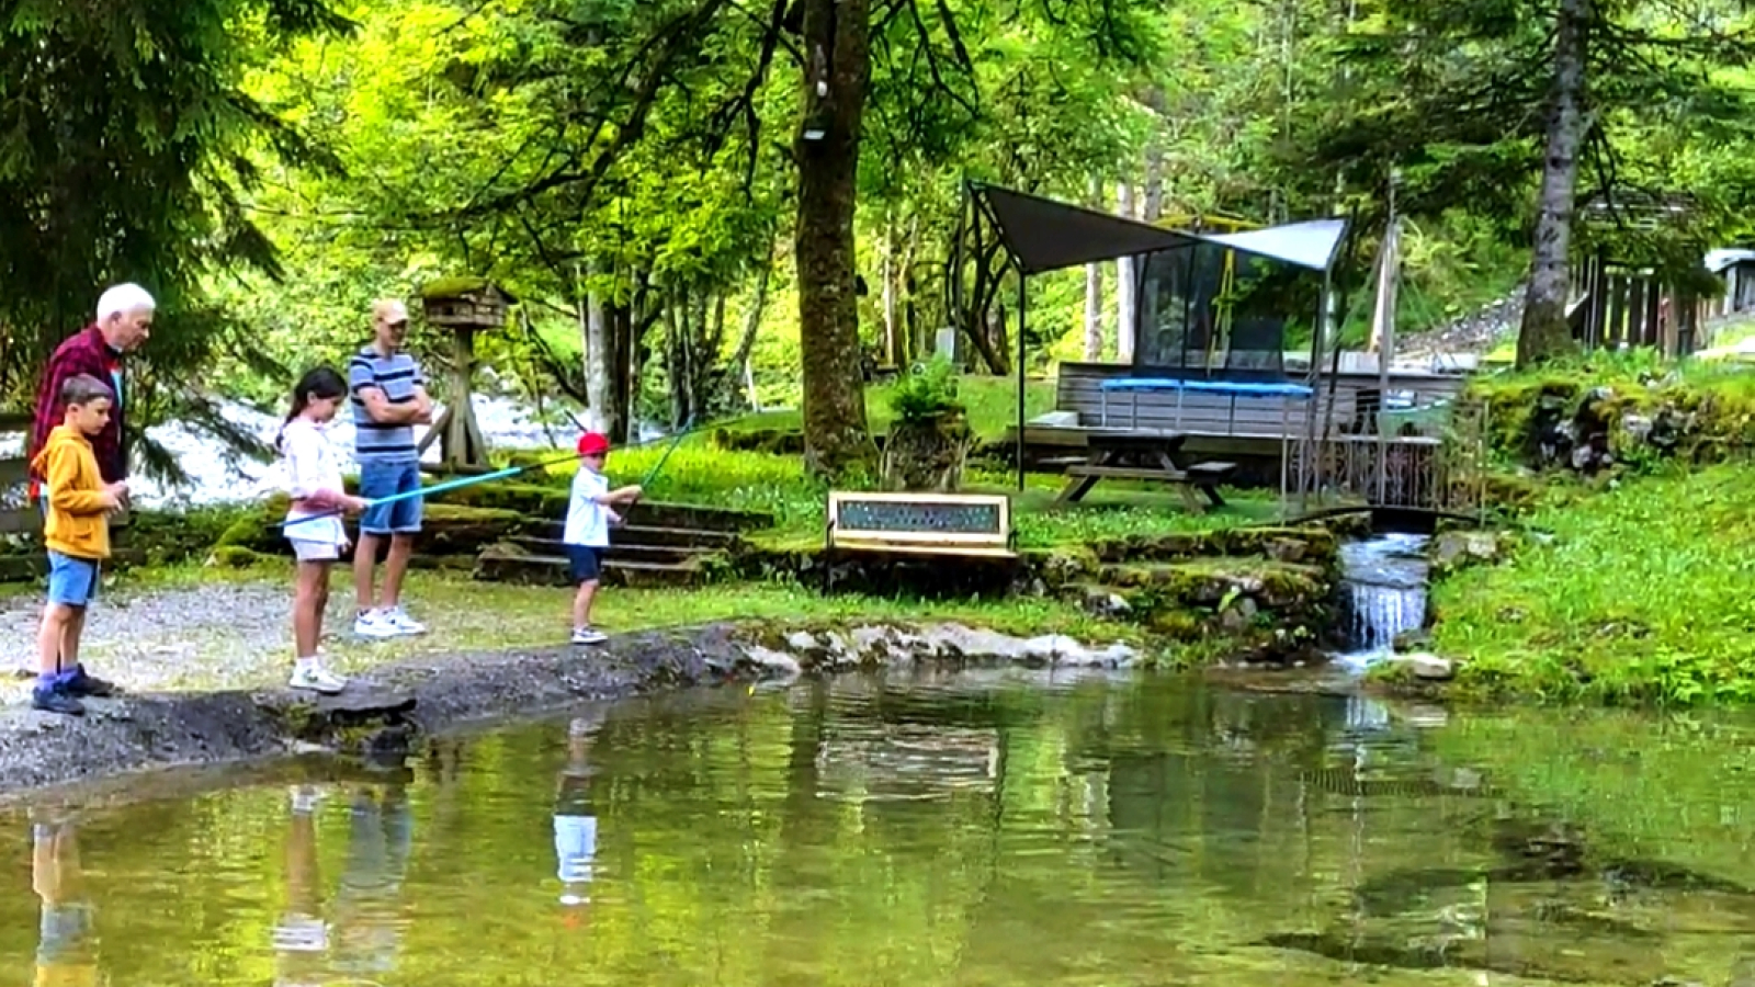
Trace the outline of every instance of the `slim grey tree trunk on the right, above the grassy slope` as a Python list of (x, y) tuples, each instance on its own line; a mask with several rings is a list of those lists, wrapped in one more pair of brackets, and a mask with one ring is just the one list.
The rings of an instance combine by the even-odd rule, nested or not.
[(1585, 140), (1585, 44), (1590, 0), (1558, 0), (1553, 42), (1553, 91), (1548, 107), (1548, 156), (1541, 172), (1530, 281), (1518, 328), (1518, 367), (1572, 348), (1565, 321), (1567, 253), (1572, 239), (1572, 198), (1578, 155)]

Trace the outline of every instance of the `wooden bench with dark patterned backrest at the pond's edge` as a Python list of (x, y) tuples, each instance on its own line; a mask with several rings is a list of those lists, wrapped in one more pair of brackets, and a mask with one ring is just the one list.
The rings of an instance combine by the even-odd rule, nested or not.
[(1014, 560), (1004, 494), (828, 494), (823, 590), (835, 553)]

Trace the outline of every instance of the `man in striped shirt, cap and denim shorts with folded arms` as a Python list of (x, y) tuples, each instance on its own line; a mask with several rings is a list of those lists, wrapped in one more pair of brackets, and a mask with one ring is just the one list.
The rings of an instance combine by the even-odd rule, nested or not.
[[(421, 457), (414, 427), (430, 425), (433, 402), (426, 378), (402, 342), (409, 311), (395, 299), (372, 302), (372, 342), (347, 360), (353, 393), (353, 458), (360, 464), (360, 495), (377, 501), (421, 488)], [(362, 638), (419, 634), (421, 623), (402, 611), (402, 576), (409, 571), (414, 536), (421, 530), (421, 499), (405, 497), (367, 508), (360, 516), (360, 546), (353, 551), (353, 585), (360, 613), (353, 632)], [(383, 590), (372, 595), (377, 544), (390, 539)]]

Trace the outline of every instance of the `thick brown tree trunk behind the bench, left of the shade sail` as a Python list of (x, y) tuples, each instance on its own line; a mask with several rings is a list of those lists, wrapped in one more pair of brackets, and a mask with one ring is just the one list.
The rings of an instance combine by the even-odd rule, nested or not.
[(804, 119), (799, 128), (799, 349), (804, 462), (839, 478), (876, 467), (865, 425), (855, 297), (853, 213), (870, 81), (869, 0), (802, 0)]

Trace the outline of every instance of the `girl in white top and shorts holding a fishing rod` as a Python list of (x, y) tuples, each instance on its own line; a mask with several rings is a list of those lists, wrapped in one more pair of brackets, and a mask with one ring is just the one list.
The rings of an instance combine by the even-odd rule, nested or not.
[(276, 443), (286, 457), (286, 539), (298, 558), (293, 581), (293, 688), (340, 692), (347, 683), (323, 667), (318, 639), (323, 638), (323, 608), (328, 606), (330, 567), (347, 550), (342, 511), (362, 511), (367, 502), (342, 485), (340, 462), (323, 436), (347, 400), (347, 381), (330, 367), (318, 367), (293, 386), (293, 409)]

